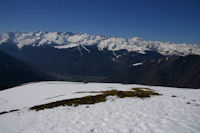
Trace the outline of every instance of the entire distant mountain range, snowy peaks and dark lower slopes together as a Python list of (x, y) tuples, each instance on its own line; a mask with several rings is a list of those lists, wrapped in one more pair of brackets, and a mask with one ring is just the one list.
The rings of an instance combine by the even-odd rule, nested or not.
[(199, 45), (71, 32), (10, 32), (0, 35), (0, 50), (49, 79), (200, 88)]

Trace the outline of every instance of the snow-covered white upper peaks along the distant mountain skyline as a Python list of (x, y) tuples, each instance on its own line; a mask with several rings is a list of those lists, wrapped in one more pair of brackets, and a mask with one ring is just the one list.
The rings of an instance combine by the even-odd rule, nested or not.
[(120, 38), (71, 32), (9, 32), (0, 34), (0, 44), (4, 43), (14, 43), (18, 48), (49, 45), (58, 49), (82, 47), (87, 50), (85, 46), (97, 46), (99, 50), (110, 51), (127, 50), (138, 53), (156, 51), (162, 55), (200, 55), (200, 45), (197, 44), (145, 41), (138, 37)]

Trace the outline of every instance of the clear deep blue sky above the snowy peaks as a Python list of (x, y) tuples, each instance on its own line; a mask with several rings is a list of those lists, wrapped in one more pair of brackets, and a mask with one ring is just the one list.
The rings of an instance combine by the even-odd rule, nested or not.
[(200, 0), (0, 1), (0, 33), (38, 30), (200, 44)]

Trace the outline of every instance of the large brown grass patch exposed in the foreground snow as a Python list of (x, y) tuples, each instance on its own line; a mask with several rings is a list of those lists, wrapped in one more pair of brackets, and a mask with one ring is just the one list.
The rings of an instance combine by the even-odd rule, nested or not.
[(149, 98), (151, 95), (160, 95), (159, 93), (154, 92), (153, 90), (149, 91), (149, 89), (147, 89), (148, 91), (146, 91), (142, 89), (132, 88), (130, 91), (107, 90), (107, 91), (77, 92), (77, 93), (101, 93), (101, 94), (95, 95), (95, 96), (85, 96), (82, 98), (66, 99), (66, 100), (56, 101), (52, 103), (37, 105), (37, 106), (31, 107), (30, 110), (39, 111), (39, 110), (54, 108), (58, 106), (74, 106), (75, 107), (82, 104), (95, 104), (99, 102), (105, 102), (107, 96), (117, 96), (118, 98), (125, 98), (125, 97)]

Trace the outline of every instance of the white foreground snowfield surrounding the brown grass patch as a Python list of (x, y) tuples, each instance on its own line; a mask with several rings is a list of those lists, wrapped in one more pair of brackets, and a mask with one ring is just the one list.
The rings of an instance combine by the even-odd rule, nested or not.
[[(108, 97), (90, 105), (41, 111), (30, 107), (97, 95), (88, 91), (146, 87), (162, 95)], [(84, 92), (88, 93), (76, 93)], [(0, 91), (0, 133), (198, 133), (200, 90), (117, 83), (39, 82)]]

